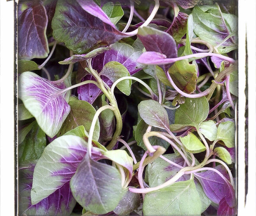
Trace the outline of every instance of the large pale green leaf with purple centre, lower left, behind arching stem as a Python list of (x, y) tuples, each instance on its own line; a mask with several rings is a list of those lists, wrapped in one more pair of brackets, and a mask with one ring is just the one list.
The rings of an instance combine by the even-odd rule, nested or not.
[[(56, 138), (46, 146), (33, 176), (31, 203), (37, 204), (69, 182), (87, 153), (87, 142), (74, 135)], [(102, 159), (102, 150), (92, 147), (92, 158)]]

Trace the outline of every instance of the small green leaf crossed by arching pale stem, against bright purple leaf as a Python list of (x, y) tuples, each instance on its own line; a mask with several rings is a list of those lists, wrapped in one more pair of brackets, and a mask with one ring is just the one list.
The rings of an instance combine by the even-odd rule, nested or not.
[[(127, 68), (117, 61), (110, 61), (102, 68), (99, 75), (108, 77), (112, 83), (123, 76), (130, 76)], [(132, 81), (130, 79), (123, 80), (119, 82), (116, 87), (126, 95), (131, 93)]]

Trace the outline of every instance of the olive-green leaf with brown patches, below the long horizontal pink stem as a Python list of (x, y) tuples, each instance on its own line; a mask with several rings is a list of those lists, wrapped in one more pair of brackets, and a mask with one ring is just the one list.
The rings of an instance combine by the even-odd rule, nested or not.
[(186, 93), (195, 91), (197, 80), (197, 68), (195, 64), (189, 64), (189, 60), (176, 61), (168, 70), (173, 82)]

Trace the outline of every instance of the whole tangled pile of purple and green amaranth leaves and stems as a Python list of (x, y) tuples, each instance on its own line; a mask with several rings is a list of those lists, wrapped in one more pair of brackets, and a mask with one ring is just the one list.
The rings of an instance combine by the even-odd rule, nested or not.
[(236, 214), (234, 3), (17, 8), (19, 215)]

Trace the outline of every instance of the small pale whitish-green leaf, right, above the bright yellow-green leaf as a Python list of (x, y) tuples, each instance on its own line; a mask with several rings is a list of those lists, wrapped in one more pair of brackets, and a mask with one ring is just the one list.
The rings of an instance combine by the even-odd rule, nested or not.
[(217, 138), (217, 127), (214, 121), (209, 120), (202, 122), (199, 125), (199, 130), (201, 133), (210, 141), (214, 141)]

